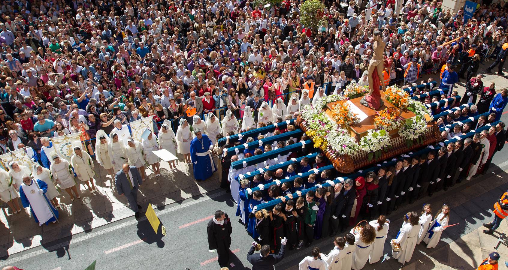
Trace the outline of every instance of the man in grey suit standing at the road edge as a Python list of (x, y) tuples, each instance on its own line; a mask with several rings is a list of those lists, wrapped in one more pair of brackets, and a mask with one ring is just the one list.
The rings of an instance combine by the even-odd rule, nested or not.
[(118, 171), (115, 176), (116, 190), (119, 195), (123, 194), (129, 200), (129, 205), (136, 218), (139, 218), (139, 210), (141, 210), (141, 206), (138, 205), (138, 188), (142, 183), (138, 168), (129, 166), (127, 163), (122, 165), (122, 170)]

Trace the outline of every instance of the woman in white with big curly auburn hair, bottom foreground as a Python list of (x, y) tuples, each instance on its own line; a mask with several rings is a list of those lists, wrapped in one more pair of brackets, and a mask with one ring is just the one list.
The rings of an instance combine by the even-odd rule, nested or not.
[(365, 266), (367, 260), (369, 260), (370, 251), (374, 247), (374, 241), (376, 240), (376, 230), (372, 225), (367, 224), (365, 227), (358, 231), (355, 231), (355, 227), (351, 229), (351, 233), (355, 235), (356, 247), (353, 251), (353, 263), (352, 269), (360, 270)]

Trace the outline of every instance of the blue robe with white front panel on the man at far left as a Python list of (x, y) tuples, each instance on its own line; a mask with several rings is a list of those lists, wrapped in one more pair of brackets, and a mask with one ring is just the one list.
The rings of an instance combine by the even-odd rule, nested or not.
[[(56, 221), (56, 218), (58, 218), (58, 211), (51, 205), (49, 199), (46, 197), (48, 184), (41, 180), (35, 181), (37, 181), (37, 185), (39, 185), (40, 189), (44, 191), (44, 195), (39, 193), (39, 188), (34, 183), (34, 180), (31, 181), (28, 186), (23, 183), (19, 187), (21, 204), (23, 204), (24, 208), (30, 207), (30, 213), (34, 217), (35, 222), (39, 223), (39, 225), (43, 223), (48, 225), (49, 222)], [(46, 200), (46, 202), (44, 200)], [(39, 217), (37, 215), (39, 215)]]

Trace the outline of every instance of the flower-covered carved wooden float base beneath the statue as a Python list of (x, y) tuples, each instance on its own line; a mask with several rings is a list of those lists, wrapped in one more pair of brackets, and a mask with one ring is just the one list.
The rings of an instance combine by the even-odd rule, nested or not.
[[(437, 124), (430, 121), (430, 109), (408, 92), (398, 86), (372, 94), (369, 90), (369, 86), (348, 85), (342, 95), (329, 95), (306, 105), (296, 121), (341, 173), (352, 173), (440, 139)], [(369, 97), (378, 99), (377, 109), (364, 102)]]

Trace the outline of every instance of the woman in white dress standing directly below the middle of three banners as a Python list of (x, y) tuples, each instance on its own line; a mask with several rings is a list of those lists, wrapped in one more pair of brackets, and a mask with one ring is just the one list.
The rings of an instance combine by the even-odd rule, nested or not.
[(49, 171), (53, 175), (53, 179), (58, 184), (61, 189), (65, 189), (69, 195), (71, 195), (71, 200), (74, 200), (74, 195), (80, 199), (78, 189), (76, 188), (76, 182), (74, 182), (74, 174), (72, 173), (72, 166), (69, 164), (69, 161), (65, 159), (60, 159), (60, 157), (53, 152), (51, 154), (51, 166), (49, 167)]

